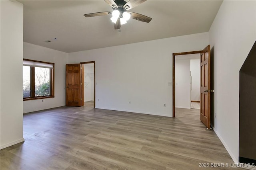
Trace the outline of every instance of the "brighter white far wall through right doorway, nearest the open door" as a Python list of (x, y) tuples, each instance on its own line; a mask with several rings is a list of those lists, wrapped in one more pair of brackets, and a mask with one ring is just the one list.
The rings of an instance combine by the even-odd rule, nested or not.
[[(198, 54), (200, 57), (200, 55)], [(191, 100), (200, 101), (200, 59), (190, 60), (190, 71), (192, 76)]]

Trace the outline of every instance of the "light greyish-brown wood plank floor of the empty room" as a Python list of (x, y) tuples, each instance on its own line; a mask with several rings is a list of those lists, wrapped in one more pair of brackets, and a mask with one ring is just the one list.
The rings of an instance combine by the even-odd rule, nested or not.
[[(233, 163), (198, 109), (176, 118), (58, 107), (24, 114), (25, 142), (1, 150), (1, 170), (198, 170)], [(210, 166), (210, 165), (209, 165)]]

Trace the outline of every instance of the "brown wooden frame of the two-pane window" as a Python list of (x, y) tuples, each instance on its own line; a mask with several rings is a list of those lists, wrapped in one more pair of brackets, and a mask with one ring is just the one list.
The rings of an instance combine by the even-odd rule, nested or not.
[(35, 96), (35, 67), (30, 66), (30, 97), (23, 98), (23, 101), (38, 100), (46, 98), (54, 98), (54, 63), (48, 63), (44, 61), (36, 61), (30, 59), (23, 59), (24, 61), (33, 61), (37, 63), (52, 64), (53, 68), (50, 68), (50, 96)]

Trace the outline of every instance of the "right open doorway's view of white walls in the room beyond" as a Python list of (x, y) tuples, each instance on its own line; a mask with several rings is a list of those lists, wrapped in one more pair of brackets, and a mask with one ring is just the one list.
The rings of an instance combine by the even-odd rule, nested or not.
[(200, 109), (200, 54), (176, 58), (174, 86), (176, 108)]

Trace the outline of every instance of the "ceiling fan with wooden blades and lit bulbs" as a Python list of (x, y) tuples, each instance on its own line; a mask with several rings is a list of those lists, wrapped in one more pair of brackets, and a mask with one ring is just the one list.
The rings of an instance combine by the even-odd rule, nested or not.
[(106, 3), (108, 3), (112, 8), (113, 11), (108, 12), (96, 12), (96, 13), (90, 13), (90, 14), (84, 14), (85, 17), (94, 17), (94, 16), (104, 16), (104, 15), (110, 15), (112, 14), (112, 18), (110, 20), (115, 23), (115, 29), (118, 29), (120, 32), (121, 25), (127, 23), (127, 21), (130, 18), (133, 18), (134, 20), (142, 21), (142, 22), (150, 22), (152, 18), (148, 16), (144, 16), (142, 14), (138, 14), (135, 12), (126, 12), (146, 0), (129, 0), (128, 2), (124, 0), (105, 0)]

